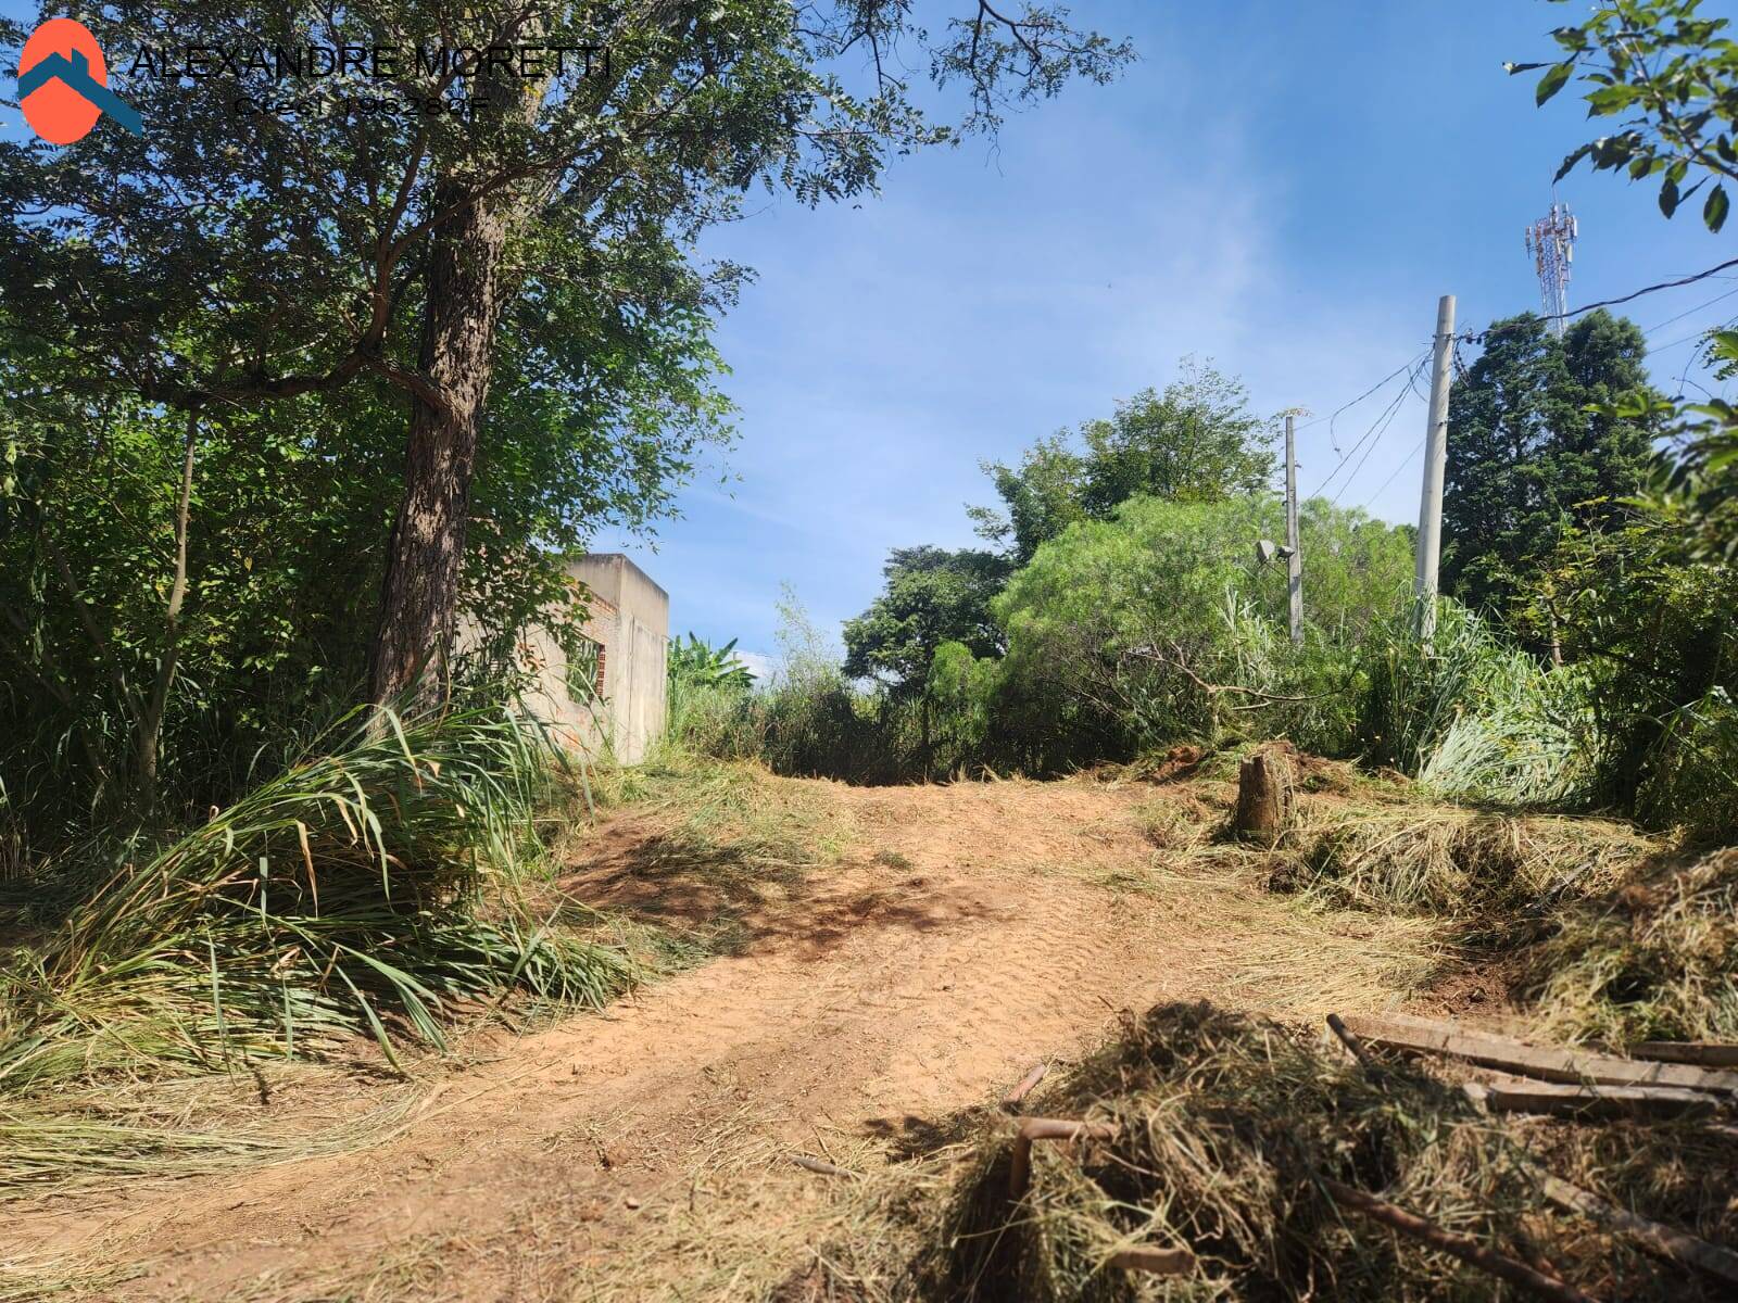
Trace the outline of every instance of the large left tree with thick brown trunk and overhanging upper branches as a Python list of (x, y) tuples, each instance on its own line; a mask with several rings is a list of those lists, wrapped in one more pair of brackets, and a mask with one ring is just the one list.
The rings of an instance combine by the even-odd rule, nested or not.
[[(0, 320), (59, 347), (68, 386), (188, 413), (189, 448), (214, 412), (396, 396), (375, 700), (443, 681), (504, 323), (520, 380), (584, 403), (607, 361), (574, 356), (563, 295), (638, 254), (647, 274), (614, 281), (624, 328), (706, 311), (718, 285), (685, 254), (747, 188), (846, 198), (890, 153), (954, 139), (914, 104), (912, 61), (963, 85), (961, 129), (982, 130), (1130, 57), (1057, 7), (985, 0), (933, 35), (907, 0), (127, 0), (80, 17), (144, 134), (0, 146)], [(396, 56), (282, 82), (275, 50), (309, 45)], [(170, 75), (141, 73), (143, 47)], [(176, 71), (191, 49), (205, 75)], [(419, 49), (459, 57), (429, 71)]]

